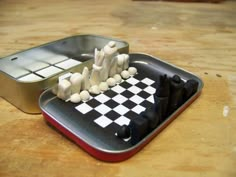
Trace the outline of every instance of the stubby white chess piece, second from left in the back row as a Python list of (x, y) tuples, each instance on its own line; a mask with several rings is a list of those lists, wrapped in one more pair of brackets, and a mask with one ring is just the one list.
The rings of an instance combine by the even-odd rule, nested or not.
[(71, 83), (71, 93), (79, 93), (81, 89), (81, 83), (82, 83), (82, 75), (80, 73), (73, 73), (70, 77), (70, 83)]

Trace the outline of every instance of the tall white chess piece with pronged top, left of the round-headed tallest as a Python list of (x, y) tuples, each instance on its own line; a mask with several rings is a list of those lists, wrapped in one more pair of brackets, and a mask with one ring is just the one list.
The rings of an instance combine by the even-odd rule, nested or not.
[(104, 61), (104, 52), (103, 50), (99, 51), (95, 48), (94, 51), (94, 64), (93, 69), (90, 76), (90, 84), (99, 85), (101, 80), (101, 70), (102, 70), (102, 63)]

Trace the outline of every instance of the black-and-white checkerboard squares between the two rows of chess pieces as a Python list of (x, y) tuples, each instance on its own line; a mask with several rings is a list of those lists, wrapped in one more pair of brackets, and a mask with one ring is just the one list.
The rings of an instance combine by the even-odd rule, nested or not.
[(104, 93), (91, 96), (75, 109), (101, 128), (128, 125), (137, 114), (154, 104), (155, 91), (154, 80), (136, 74)]

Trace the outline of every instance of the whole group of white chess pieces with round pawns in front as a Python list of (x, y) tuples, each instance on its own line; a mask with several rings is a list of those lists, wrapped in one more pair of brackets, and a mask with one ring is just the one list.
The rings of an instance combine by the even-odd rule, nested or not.
[(92, 71), (84, 67), (82, 74), (73, 73), (59, 79), (52, 92), (58, 98), (78, 103), (87, 101), (91, 94), (99, 94), (135, 75), (137, 69), (129, 67), (129, 55), (119, 54), (114, 41), (110, 41), (100, 51), (95, 48)]

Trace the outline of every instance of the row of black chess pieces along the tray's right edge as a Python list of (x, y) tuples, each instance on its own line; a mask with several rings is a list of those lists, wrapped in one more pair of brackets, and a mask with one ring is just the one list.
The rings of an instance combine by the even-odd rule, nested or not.
[(121, 126), (117, 136), (131, 138), (131, 144), (137, 144), (196, 93), (197, 89), (198, 82), (194, 79), (184, 82), (178, 75), (171, 78), (160, 75), (153, 95), (154, 105), (132, 119), (128, 126)]

